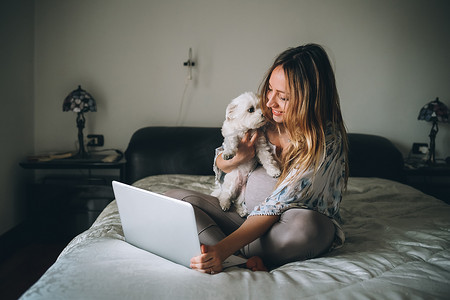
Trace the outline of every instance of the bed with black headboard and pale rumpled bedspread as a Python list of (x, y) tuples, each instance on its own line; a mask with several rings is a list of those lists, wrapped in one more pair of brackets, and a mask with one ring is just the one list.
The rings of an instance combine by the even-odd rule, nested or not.
[[(142, 128), (126, 150), (126, 181), (209, 193), (221, 142), (220, 128)], [(402, 183), (389, 140), (350, 134), (349, 148), (338, 250), (270, 272), (201, 274), (126, 243), (113, 201), (21, 299), (449, 299), (450, 206)]]

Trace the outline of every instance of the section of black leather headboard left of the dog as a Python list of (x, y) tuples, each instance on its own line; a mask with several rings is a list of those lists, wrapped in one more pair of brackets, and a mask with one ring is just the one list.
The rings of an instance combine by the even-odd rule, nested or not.
[(145, 127), (125, 151), (125, 180), (158, 174), (212, 175), (214, 149), (222, 145), (220, 128)]

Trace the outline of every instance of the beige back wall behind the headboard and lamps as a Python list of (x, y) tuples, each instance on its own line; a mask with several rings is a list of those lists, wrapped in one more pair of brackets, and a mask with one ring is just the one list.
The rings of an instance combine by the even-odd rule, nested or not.
[[(86, 132), (125, 149), (136, 129), (177, 123), (189, 47), (197, 66), (182, 124), (220, 126), (279, 52), (316, 42), (334, 61), (349, 131), (406, 154), (428, 142), (420, 108), (436, 96), (450, 105), (449, 13), (445, 0), (37, 1), (36, 148), (74, 147), (75, 116), (61, 105), (78, 84), (98, 101)], [(450, 130), (440, 129), (445, 157)]]

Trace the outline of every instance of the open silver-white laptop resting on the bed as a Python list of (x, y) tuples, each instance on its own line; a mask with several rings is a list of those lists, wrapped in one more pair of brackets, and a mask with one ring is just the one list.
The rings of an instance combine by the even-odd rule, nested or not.
[[(117, 181), (112, 186), (125, 240), (189, 268), (191, 258), (201, 254), (192, 205)], [(246, 261), (232, 255), (223, 268)]]

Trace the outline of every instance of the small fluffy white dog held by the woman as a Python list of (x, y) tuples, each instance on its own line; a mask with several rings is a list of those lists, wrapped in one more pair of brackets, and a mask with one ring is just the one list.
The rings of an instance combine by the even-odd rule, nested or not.
[[(232, 159), (236, 154), (239, 142), (249, 130), (255, 131), (266, 124), (264, 115), (259, 107), (259, 100), (254, 93), (244, 93), (235, 98), (227, 106), (225, 121), (222, 126), (224, 137), (222, 157)], [(227, 211), (234, 202), (236, 211), (241, 217), (248, 211), (244, 203), (242, 187), (247, 182), (248, 174), (261, 163), (267, 173), (276, 178), (281, 174), (277, 161), (274, 159), (270, 146), (264, 134), (260, 134), (255, 142), (256, 155), (251, 161), (241, 164), (238, 168), (224, 177), (221, 186), (217, 186), (212, 195), (219, 199), (220, 207)], [(264, 199), (261, 199), (261, 201)]]

